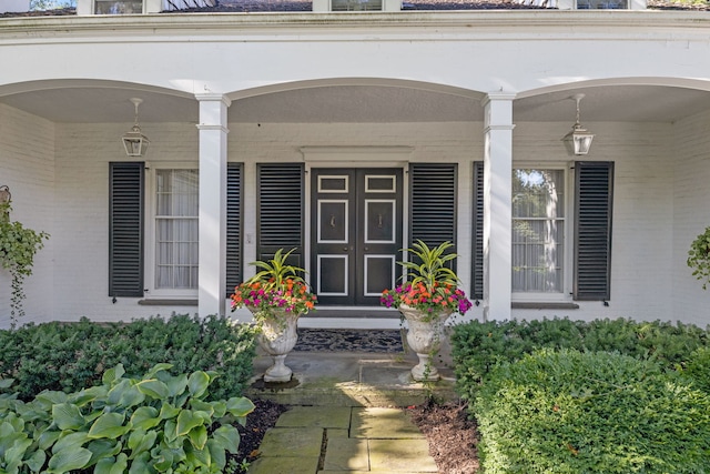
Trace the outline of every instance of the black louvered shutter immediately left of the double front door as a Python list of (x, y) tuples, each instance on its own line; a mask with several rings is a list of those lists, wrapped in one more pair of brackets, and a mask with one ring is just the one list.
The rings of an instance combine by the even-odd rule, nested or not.
[(256, 174), (257, 260), (296, 249), (288, 263), (303, 268), (303, 164), (258, 164)]

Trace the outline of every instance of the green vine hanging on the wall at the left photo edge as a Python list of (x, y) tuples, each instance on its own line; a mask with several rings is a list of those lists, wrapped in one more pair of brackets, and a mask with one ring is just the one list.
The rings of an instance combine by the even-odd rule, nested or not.
[(10, 202), (0, 202), (0, 264), (12, 279), (10, 323), (14, 326), (24, 316), (24, 278), (32, 274), (34, 254), (44, 246), (43, 241), (49, 239), (49, 234), (10, 221), (11, 210)]

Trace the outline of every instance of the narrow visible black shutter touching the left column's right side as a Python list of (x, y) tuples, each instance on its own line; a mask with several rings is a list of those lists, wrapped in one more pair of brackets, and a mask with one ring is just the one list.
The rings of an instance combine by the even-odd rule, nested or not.
[(242, 283), (242, 163), (226, 165), (226, 294), (234, 293), (234, 286)]

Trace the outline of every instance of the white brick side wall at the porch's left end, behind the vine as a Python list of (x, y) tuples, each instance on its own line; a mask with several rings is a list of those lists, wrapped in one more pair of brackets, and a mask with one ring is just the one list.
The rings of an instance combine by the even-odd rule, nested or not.
[[(0, 124), (0, 185), (12, 193), (10, 219), (53, 234), (54, 125), (2, 103)], [(53, 248), (50, 238), (26, 279), (28, 320), (44, 321), (53, 313)], [(10, 273), (0, 269), (0, 327), (10, 325)]]

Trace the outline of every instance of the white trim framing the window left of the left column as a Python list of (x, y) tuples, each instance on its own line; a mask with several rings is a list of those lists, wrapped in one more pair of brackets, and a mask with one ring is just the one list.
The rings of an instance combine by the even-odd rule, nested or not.
[[(197, 297), (199, 289), (194, 290), (166, 290), (155, 288), (155, 177), (158, 170), (199, 170), (196, 162), (160, 162), (160, 163), (145, 163), (145, 229), (144, 229), (144, 282), (145, 282), (145, 296), (160, 300), (160, 299), (195, 299)], [(199, 260), (197, 260), (199, 262)]]

